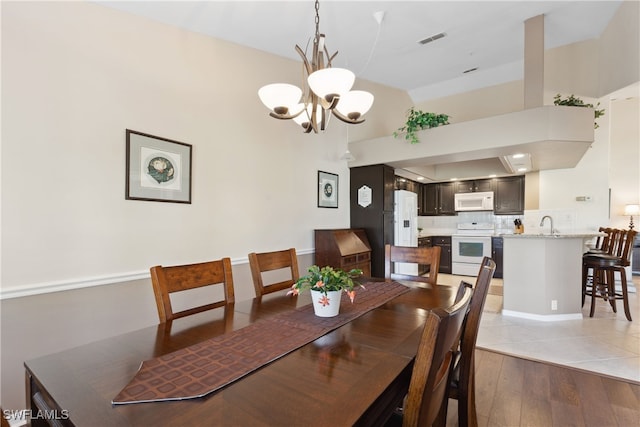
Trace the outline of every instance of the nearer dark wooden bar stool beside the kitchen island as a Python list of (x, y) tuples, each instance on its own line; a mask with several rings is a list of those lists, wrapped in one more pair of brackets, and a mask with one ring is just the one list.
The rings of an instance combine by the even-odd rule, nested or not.
[[(625, 267), (631, 264), (631, 248), (633, 247), (636, 234), (637, 232), (632, 229), (617, 230), (617, 232), (612, 233), (612, 236), (615, 236), (615, 241), (611, 242), (613, 248), (611, 253), (586, 253), (582, 257), (584, 295), (591, 297), (589, 317), (593, 317), (596, 297), (601, 297), (605, 301), (609, 302), (614, 313), (617, 313), (616, 300), (622, 300), (624, 314), (627, 320), (632, 320), (629, 310), (629, 295), (627, 292), (627, 275)], [(593, 271), (590, 287), (585, 283), (585, 271), (588, 271), (589, 269)], [(620, 274), (620, 291), (616, 290), (616, 273)]]

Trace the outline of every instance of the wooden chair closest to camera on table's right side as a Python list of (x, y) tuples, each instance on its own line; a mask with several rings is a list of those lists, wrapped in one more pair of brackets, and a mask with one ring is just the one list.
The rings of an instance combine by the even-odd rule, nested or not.
[(448, 309), (428, 313), (416, 353), (402, 425), (431, 426), (447, 393), (452, 348), (460, 336), (472, 290), (465, 287), (460, 301)]

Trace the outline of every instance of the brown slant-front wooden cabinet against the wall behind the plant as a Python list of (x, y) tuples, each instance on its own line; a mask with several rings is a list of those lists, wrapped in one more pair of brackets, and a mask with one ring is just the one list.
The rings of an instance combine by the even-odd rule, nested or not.
[(315, 230), (316, 265), (349, 271), (359, 268), (371, 276), (371, 245), (363, 229)]

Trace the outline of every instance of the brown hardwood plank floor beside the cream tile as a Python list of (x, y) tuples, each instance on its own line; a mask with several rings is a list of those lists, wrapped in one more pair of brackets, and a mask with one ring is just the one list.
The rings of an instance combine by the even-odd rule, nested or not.
[[(449, 400), (447, 426), (457, 426)], [(480, 427), (640, 425), (640, 385), (611, 377), (476, 350)]]

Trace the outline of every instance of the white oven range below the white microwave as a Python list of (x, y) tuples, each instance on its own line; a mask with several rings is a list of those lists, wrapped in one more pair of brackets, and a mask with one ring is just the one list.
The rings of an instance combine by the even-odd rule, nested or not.
[(460, 223), (458, 232), (451, 236), (451, 273), (477, 276), (485, 256), (491, 256), (491, 223)]

